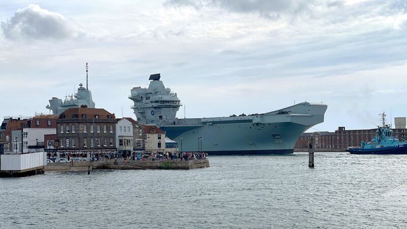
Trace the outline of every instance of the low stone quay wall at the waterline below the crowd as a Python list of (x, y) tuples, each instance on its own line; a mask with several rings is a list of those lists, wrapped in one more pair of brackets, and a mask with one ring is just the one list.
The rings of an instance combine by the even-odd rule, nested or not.
[(194, 169), (209, 167), (208, 158), (191, 160), (147, 161), (71, 161), (48, 163), (45, 171), (86, 171), (89, 169)]

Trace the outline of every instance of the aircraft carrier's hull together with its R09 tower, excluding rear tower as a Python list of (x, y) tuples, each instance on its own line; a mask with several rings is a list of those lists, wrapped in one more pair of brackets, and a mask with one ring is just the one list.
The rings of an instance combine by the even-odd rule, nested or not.
[(181, 151), (211, 155), (289, 154), (299, 136), (324, 122), (327, 105), (303, 102), (263, 114), (216, 118), (178, 119), (182, 106), (177, 93), (165, 88), (160, 74), (150, 76), (149, 88), (133, 88), (137, 121), (154, 124), (179, 142)]

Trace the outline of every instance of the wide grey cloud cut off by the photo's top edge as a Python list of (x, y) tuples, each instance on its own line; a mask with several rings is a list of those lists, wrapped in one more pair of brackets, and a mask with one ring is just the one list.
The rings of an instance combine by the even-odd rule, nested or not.
[(268, 18), (280, 18), (282, 15), (309, 14), (315, 7), (340, 7), (342, 2), (328, 0), (167, 0), (165, 6), (218, 7), (231, 12), (258, 13)]

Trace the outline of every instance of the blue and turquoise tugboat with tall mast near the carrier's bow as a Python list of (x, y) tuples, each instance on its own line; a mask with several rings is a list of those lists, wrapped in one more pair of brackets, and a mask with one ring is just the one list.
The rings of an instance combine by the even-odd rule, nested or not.
[(351, 154), (407, 154), (407, 141), (393, 138), (391, 125), (386, 125), (386, 114), (381, 113), (382, 126), (377, 126), (376, 137), (369, 142), (362, 141), (360, 147), (346, 149)]

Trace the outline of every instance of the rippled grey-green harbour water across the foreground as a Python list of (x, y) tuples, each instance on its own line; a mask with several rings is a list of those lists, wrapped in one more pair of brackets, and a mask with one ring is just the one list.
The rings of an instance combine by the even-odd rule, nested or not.
[(406, 227), (407, 155), (212, 156), (194, 170), (0, 178), (0, 227)]

